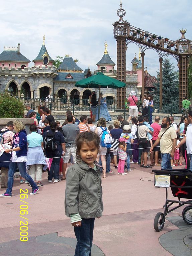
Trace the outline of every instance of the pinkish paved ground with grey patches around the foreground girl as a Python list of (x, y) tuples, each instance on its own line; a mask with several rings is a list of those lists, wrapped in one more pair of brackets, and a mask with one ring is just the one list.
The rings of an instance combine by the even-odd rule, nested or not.
[[(183, 166), (184, 167), (184, 166)], [(160, 169), (160, 167), (156, 167)], [(127, 175), (107, 174), (102, 180), (103, 217), (95, 220), (92, 256), (185, 256), (192, 255), (191, 225), (182, 219), (182, 206), (166, 216), (164, 229), (156, 232), (153, 222), (163, 211), (165, 189), (154, 187), (152, 169), (131, 164)], [(36, 195), (28, 196), (28, 237), (19, 240), (19, 190), (31, 188), (14, 180), (13, 196), (0, 198), (0, 256), (74, 255), (76, 239), (70, 219), (65, 216), (66, 181), (48, 183), (43, 173), (43, 186)], [(0, 193), (5, 190), (0, 189)], [(174, 199), (169, 189), (169, 199)]]

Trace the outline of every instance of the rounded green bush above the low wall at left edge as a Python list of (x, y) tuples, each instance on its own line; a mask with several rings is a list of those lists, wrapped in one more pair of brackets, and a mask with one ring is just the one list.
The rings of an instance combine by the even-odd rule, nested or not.
[(23, 118), (24, 105), (15, 97), (0, 96), (0, 118)]

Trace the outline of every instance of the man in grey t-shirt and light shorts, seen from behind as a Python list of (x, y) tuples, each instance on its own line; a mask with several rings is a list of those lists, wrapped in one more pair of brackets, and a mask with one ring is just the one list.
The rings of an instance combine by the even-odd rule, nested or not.
[(69, 163), (69, 159), (73, 156), (73, 162), (76, 161), (76, 144), (75, 140), (77, 135), (79, 134), (80, 130), (78, 125), (73, 124), (73, 115), (67, 115), (68, 123), (62, 127), (62, 133), (65, 138), (65, 156), (63, 158), (63, 177), (62, 179), (65, 180), (65, 172), (67, 169), (67, 163)]

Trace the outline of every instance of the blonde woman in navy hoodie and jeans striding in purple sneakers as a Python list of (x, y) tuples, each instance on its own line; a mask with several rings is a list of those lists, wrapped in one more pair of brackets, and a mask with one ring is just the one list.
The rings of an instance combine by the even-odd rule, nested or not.
[(15, 120), (13, 123), (14, 130), (16, 131), (13, 137), (12, 149), (6, 149), (5, 153), (12, 153), (11, 161), (9, 164), (8, 171), (8, 183), (7, 190), (5, 193), (1, 194), (0, 197), (11, 197), (13, 188), (13, 176), (16, 169), (23, 178), (25, 178), (32, 187), (32, 192), (30, 195), (35, 195), (39, 188), (26, 172), (26, 161), (27, 161), (27, 134), (25, 131), (25, 126), (21, 120)]

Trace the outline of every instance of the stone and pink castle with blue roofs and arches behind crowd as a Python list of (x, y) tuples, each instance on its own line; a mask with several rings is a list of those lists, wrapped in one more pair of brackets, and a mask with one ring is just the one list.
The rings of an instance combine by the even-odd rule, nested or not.
[[(77, 60), (73, 60), (69, 55), (65, 56), (57, 69), (45, 47), (45, 37), (43, 37), (39, 54), (32, 62), (34, 66), (28, 67), (30, 60), (20, 53), (20, 44), (17, 48), (4, 48), (0, 54), (0, 93), (23, 96), (26, 99), (46, 98), (50, 95), (52, 99), (60, 99), (63, 102), (71, 99), (87, 100), (93, 89), (75, 87), (77, 81), (97, 72), (103, 72), (112, 78), (117, 78), (117, 70), (114, 69), (115, 63), (108, 54), (106, 43), (103, 57), (96, 64), (97, 70), (94, 73), (91, 73), (89, 68), (83, 71), (77, 65)], [(135, 90), (139, 96), (142, 84), (140, 54), (139, 60), (135, 56), (131, 63), (132, 71), (126, 71), (126, 95), (128, 96), (131, 90)], [(152, 77), (146, 69), (146, 92), (154, 88), (154, 82), (156, 82), (156, 78)], [(106, 88), (103, 91), (103, 96), (106, 99), (116, 100), (116, 89)]]

